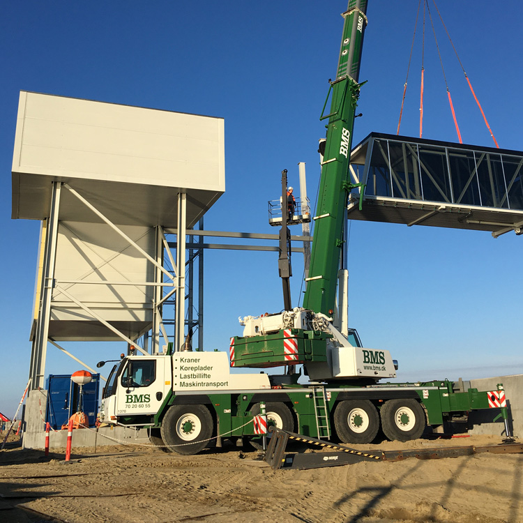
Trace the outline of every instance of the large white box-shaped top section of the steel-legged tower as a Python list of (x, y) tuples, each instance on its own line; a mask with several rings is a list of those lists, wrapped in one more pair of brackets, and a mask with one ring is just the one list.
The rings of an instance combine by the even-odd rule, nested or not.
[[(47, 218), (52, 181), (89, 192), (109, 219), (130, 225), (176, 227), (176, 208), (167, 205), (169, 211), (158, 215), (151, 207), (187, 192), (192, 226), (225, 191), (224, 121), (22, 91), (13, 218)], [(107, 206), (114, 192), (123, 196), (121, 208)], [(132, 218), (123, 212), (129, 201), (137, 204)], [(85, 220), (84, 210), (75, 208), (66, 195), (60, 219)]]

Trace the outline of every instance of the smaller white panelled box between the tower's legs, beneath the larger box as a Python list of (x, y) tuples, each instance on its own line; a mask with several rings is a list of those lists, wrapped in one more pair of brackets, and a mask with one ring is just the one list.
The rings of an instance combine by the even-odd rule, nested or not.
[[(121, 230), (154, 257), (156, 232), (151, 227)], [(153, 282), (153, 264), (105, 224), (61, 222), (56, 250), (56, 287), (52, 294), (50, 333), (55, 340), (89, 339), (94, 318), (61, 289), (128, 334), (141, 331), (153, 317), (153, 287), (98, 285), (89, 282)], [(67, 284), (64, 281), (80, 281)], [(82, 323), (70, 327), (71, 321)], [(107, 331), (105, 339), (113, 337)], [(98, 339), (98, 336), (96, 336)]]

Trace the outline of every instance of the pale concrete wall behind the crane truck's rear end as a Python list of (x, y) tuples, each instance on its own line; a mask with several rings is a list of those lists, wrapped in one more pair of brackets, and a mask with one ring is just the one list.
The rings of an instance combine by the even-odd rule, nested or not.
[[(477, 388), (478, 391), (496, 391), (499, 383), (503, 384), (506, 393), (507, 406), (509, 407), (509, 429), (515, 437), (523, 437), (523, 374), (471, 379), (470, 386)], [(469, 430), (469, 433), (504, 436), (505, 425), (501, 417), (495, 423), (492, 423), (497, 414), (499, 414), (499, 409), (472, 412), (470, 420), (474, 427)]]

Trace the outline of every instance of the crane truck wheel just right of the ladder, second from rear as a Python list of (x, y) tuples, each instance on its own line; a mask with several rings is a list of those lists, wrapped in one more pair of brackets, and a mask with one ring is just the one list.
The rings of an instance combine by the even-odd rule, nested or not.
[(379, 430), (376, 407), (369, 400), (345, 400), (334, 411), (336, 434), (344, 443), (370, 443)]

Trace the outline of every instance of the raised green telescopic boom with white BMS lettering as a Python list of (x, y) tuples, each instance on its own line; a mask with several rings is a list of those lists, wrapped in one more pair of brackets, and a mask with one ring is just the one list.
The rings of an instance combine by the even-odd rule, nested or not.
[(366, 8), (367, 0), (351, 0), (343, 14), (338, 73), (331, 82), (331, 113), (322, 118), (328, 118), (328, 126), (303, 307), (326, 315), (335, 309)]

